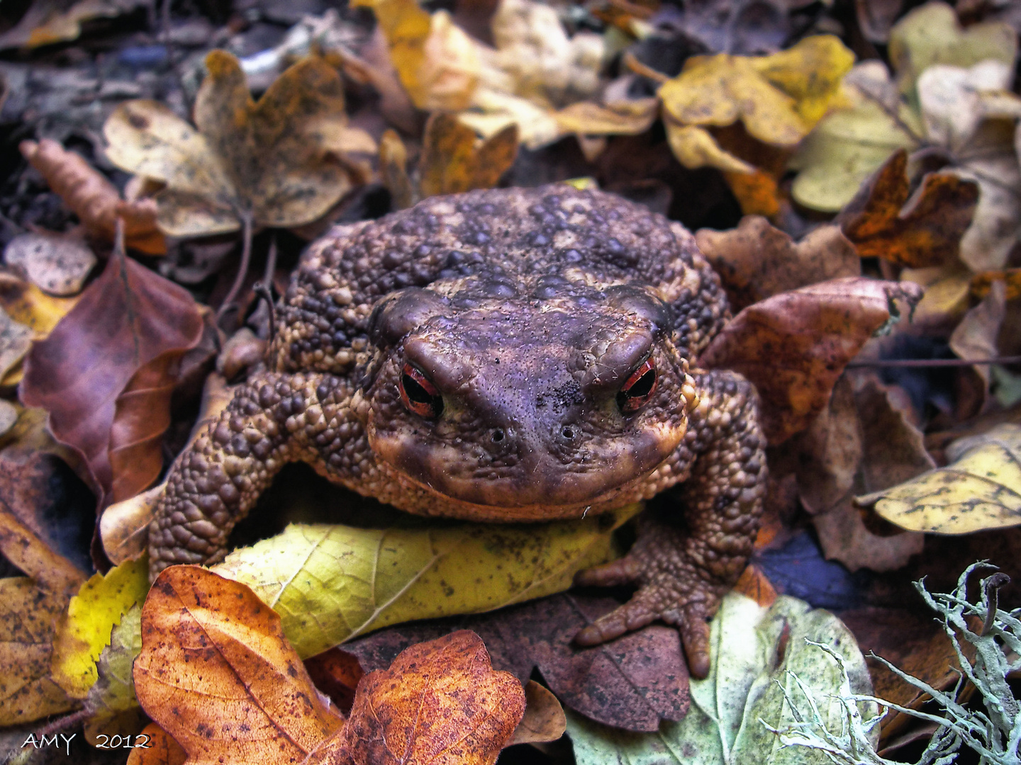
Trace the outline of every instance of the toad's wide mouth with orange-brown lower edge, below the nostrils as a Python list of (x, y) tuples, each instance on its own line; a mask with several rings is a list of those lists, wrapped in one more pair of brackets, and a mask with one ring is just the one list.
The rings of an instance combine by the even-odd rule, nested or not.
[(568, 456), (533, 446), (500, 461), (397, 431), (373, 434), (371, 443), (381, 467), (434, 495), (443, 515), (535, 520), (574, 517), (592, 506), (640, 499), (649, 493), (649, 473), (667, 461), (685, 430), (683, 423), (649, 427), (626, 441)]

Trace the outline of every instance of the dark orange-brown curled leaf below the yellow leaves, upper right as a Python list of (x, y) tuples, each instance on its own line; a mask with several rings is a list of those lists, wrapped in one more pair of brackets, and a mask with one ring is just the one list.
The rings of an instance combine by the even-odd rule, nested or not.
[(844, 236), (863, 258), (911, 268), (957, 259), (961, 237), (978, 203), (978, 184), (930, 172), (909, 200), (908, 152), (898, 149), (863, 184), (839, 216)]

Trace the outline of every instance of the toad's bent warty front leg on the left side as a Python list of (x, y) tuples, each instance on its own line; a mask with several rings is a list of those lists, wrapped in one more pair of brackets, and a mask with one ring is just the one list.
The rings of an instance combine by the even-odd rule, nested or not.
[[(315, 462), (360, 425), (350, 384), (327, 374), (265, 373), (175, 461), (149, 524), (149, 576), (176, 563), (212, 563), (234, 525), (288, 462)], [(334, 449), (342, 460), (343, 449)], [(343, 466), (331, 465), (338, 474)]]

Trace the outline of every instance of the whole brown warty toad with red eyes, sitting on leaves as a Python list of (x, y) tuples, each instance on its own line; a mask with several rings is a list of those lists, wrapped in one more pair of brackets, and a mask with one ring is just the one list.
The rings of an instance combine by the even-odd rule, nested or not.
[(583, 584), (632, 599), (577, 635), (707, 618), (751, 551), (766, 480), (752, 386), (692, 361), (729, 318), (682, 225), (569, 186), (434, 197), (335, 227), (277, 309), (268, 370), (177, 460), (151, 573), (209, 563), (274, 473), (304, 461), (422, 515), (538, 521), (676, 491)]

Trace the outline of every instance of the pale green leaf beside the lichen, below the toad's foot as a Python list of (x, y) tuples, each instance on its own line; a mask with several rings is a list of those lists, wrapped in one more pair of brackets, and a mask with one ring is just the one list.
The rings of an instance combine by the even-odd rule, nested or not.
[[(769, 609), (731, 593), (712, 624), (713, 666), (704, 680), (691, 681), (691, 709), (679, 722), (655, 733), (632, 733), (568, 712), (568, 733), (578, 765), (729, 765), (730, 763), (827, 763), (822, 754), (785, 749), (764, 722), (786, 727), (790, 708), (784, 688), (800, 677), (818, 696), (840, 687), (839, 667), (806, 639), (847, 656), (856, 693), (869, 693), (865, 660), (850, 631), (827, 611), (780, 597)], [(785, 645), (783, 655), (778, 649)], [(779, 684), (778, 684), (779, 683)], [(867, 716), (875, 714), (869, 705)], [(841, 707), (824, 709), (839, 730)]]

